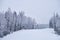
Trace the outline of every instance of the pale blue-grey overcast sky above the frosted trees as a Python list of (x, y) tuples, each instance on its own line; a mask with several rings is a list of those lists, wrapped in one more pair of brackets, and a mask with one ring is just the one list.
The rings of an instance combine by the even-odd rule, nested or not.
[(60, 0), (0, 0), (0, 11), (24, 11), (26, 16), (35, 18), (37, 23), (48, 24), (54, 12), (60, 15)]

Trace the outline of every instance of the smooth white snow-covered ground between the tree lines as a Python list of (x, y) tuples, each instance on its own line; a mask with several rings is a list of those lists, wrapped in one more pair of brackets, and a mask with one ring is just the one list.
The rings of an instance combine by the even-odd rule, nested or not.
[(20, 30), (7, 35), (1, 40), (60, 40), (60, 36), (54, 34), (53, 29)]

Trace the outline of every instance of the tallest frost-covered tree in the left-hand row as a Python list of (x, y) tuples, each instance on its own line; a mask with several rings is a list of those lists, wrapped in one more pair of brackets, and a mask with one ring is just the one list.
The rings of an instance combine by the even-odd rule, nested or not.
[(12, 24), (13, 24), (13, 14), (11, 12), (11, 9), (8, 8), (8, 11), (5, 12), (5, 19), (7, 21), (7, 31), (10, 33), (11, 32), (11, 27), (12, 27)]

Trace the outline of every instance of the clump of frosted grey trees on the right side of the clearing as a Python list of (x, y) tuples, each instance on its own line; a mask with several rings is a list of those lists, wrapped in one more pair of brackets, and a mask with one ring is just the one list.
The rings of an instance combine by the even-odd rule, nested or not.
[(53, 28), (54, 31), (60, 35), (60, 16), (58, 13), (54, 14), (54, 16), (50, 19), (49, 28)]

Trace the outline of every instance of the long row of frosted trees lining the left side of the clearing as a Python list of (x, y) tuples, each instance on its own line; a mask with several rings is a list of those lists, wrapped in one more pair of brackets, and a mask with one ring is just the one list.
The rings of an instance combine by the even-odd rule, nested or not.
[(5, 13), (0, 12), (0, 37), (21, 29), (34, 29), (35, 25), (35, 19), (25, 16), (23, 11), (18, 15), (10, 8)]

